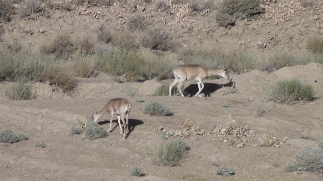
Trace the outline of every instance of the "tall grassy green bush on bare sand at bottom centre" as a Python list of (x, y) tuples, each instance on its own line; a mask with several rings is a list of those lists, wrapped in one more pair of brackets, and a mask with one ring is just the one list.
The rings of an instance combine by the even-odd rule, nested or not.
[(161, 142), (153, 162), (158, 166), (176, 166), (189, 149), (190, 147), (182, 139)]

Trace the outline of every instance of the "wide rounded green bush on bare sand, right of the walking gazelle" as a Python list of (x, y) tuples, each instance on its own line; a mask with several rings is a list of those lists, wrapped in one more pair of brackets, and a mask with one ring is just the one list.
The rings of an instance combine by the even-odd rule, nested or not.
[(295, 103), (296, 101), (310, 101), (314, 97), (313, 87), (303, 85), (299, 80), (280, 80), (272, 84), (268, 90), (271, 101), (276, 103)]

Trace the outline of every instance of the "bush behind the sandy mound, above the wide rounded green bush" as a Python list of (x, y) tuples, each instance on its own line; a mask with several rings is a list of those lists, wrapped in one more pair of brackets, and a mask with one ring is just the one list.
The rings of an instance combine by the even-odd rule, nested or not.
[(261, 70), (272, 72), (283, 67), (294, 66), (295, 64), (293, 56), (286, 53), (274, 53), (268, 56), (268, 61)]

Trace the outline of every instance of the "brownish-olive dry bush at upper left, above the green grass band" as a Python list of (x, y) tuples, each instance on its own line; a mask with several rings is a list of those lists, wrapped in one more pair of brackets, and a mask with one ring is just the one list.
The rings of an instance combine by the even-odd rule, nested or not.
[(68, 35), (59, 35), (49, 45), (40, 47), (40, 52), (49, 55), (54, 54), (57, 58), (67, 58), (74, 51), (74, 44)]

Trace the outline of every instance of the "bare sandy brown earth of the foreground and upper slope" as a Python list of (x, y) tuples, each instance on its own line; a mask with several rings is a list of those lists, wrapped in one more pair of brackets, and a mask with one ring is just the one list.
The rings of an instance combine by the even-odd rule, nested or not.
[[(278, 1), (271, 4), (274, 8), (284, 9), (286, 4), (292, 2), (298, 5), (297, 1)], [(239, 41), (244, 40), (245, 44), (241, 46), (261, 57), (279, 49), (295, 53), (306, 51), (303, 41), (306, 35), (322, 33), (320, 24), (323, 9), (315, 9), (315, 6), (319, 7), (321, 3), (317, 1), (317, 4), (304, 10), (293, 9), (288, 20), (286, 20), (286, 16), (289, 15), (287, 11), (282, 17), (278, 17), (277, 24), (274, 24), (275, 18), (248, 24), (238, 22), (230, 30), (215, 26), (216, 23), (211, 18), (213, 12), (208, 16), (192, 16), (196, 26), (191, 24), (193, 30), (188, 32), (178, 28), (180, 26), (169, 27), (167, 23), (164, 25), (159, 21), (163, 17), (166, 22), (172, 22), (175, 21), (174, 16), (151, 10), (150, 13), (156, 15), (150, 19), (153, 20), (154, 26), (171, 28), (170, 32), (183, 45), (219, 46), (229, 49), (238, 47)], [(82, 8), (86, 9), (79, 7), (80, 10), (83, 10)], [(111, 8), (114, 12), (111, 12)], [(39, 16), (35, 20), (21, 20), (16, 17), (2, 25), (6, 30), (9, 27), (16, 27), (3, 35), (2, 47), (11, 44), (14, 37), (22, 43), (25, 50), (36, 52), (42, 42), (51, 41), (55, 35), (62, 32), (70, 33), (74, 37), (93, 38), (94, 29), (102, 23), (112, 31), (117, 32), (122, 28), (116, 21), (116, 12), (121, 10), (121, 7), (100, 9), (105, 13), (102, 19), (95, 19), (92, 15), (77, 16), (77, 9), (71, 12), (55, 10), (49, 19)], [(125, 10), (121, 11), (125, 17), (132, 15)], [(281, 11), (284, 13), (286, 10)], [(149, 14), (149, 8), (143, 13)], [(314, 20), (315, 16), (319, 18)], [(105, 22), (106, 17), (111, 19)], [(203, 34), (203, 30), (199, 28), (202, 24), (212, 29), (213, 38), (209, 34)], [(27, 27), (33, 32), (32, 35), (24, 33), (28, 32)], [(39, 28), (45, 29), (46, 32), (39, 33)], [(177, 36), (176, 33), (183, 34)], [(274, 39), (278, 43), (271, 42), (273, 39), (267, 39), (267, 36), (273, 36), (274, 33), (276, 36)], [(204, 37), (200, 39), (198, 36)], [(248, 38), (251, 41), (248, 41)], [(258, 48), (259, 41), (267, 42), (268, 46)], [(177, 61), (176, 53), (167, 52), (166, 56)], [(319, 141), (323, 139), (322, 66), (309, 63), (285, 67), (271, 73), (252, 71), (233, 75), (231, 78), (238, 93), (222, 95), (227, 80), (206, 80), (208, 87), (205, 91), (210, 95), (204, 98), (144, 95), (154, 87), (143, 86), (144, 83), (140, 82), (118, 83), (112, 77), (100, 73), (96, 78), (77, 78), (78, 87), (73, 97), (45, 83), (33, 83), (35, 99), (13, 101), (7, 99), (4, 94), (4, 88), (10, 82), (2, 82), (0, 127), (23, 133), (29, 139), (9, 146), (0, 145), (0, 178), (1, 180), (322, 180), (322, 174), (284, 171), (284, 167), (291, 163), (298, 150), (306, 146), (317, 147)], [(315, 99), (293, 105), (262, 101), (267, 99), (268, 85), (279, 79), (290, 78), (297, 78), (305, 84), (313, 85)], [(168, 85), (171, 81), (157, 82), (155, 86), (159, 86), (160, 83)], [(191, 85), (192, 83), (186, 82), (185, 87), (197, 87), (196, 83)], [(69, 128), (75, 125), (78, 119), (89, 119), (94, 110), (101, 109), (107, 101), (116, 97), (126, 98), (132, 103), (130, 124), (133, 130), (127, 139), (122, 139), (116, 123), (113, 123), (115, 128), (107, 137), (95, 141), (87, 139), (85, 134), (69, 136)], [(136, 103), (137, 98), (145, 101)], [(174, 115), (159, 117), (145, 114), (142, 108), (152, 100), (168, 105), (174, 111)], [(225, 104), (232, 107), (223, 107)], [(265, 111), (261, 117), (256, 116), (259, 108)], [(219, 141), (215, 134), (192, 135), (184, 139), (191, 149), (179, 166), (155, 166), (149, 158), (147, 152), (163, 141), (159, 138), (159, 134), (152, 131), (153, 128), (163, 126), (168, 130), (180, 129), (188, 118), (192, 125), (209, 131), (214, 126), (225, 126), (229, 114), (234, 115), (241, 125), (247, 125), (255, 132), (253, 136), (245, 137), (247, 142), (243, 148)], [(105, 121), (107, 119), (108, 116), (104, 115), (102, 118), (104, 121), (101, 122), (101, 126), (105, 129), (109, 126), (109, 121)], [(260, 147), (259, 139), (264, 134), (277, 138), (287, 136), (289, 144), (284, 143), (280, 147)], [(35, 145), (40, 143), (45, 143), (47, 147), (36, 148)], [(231, 177), (217, 176), (217, 167), (213, 166), (212, 162), (220, 166), (230, 166), (236, 174)], [(129, 169), (133, 166), (142, 167), (145, 176), (131, 176)]]

